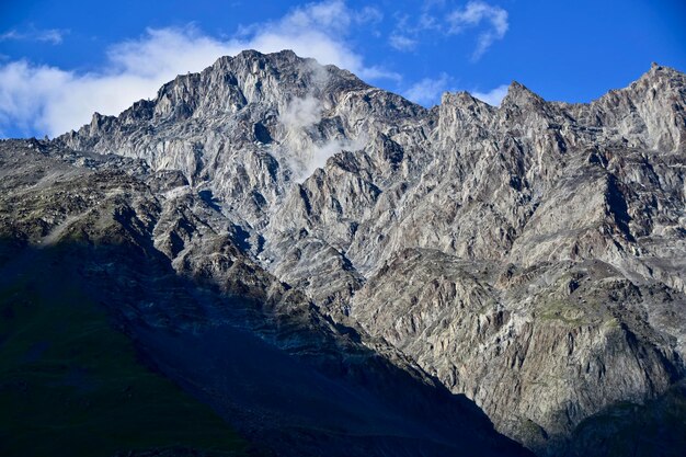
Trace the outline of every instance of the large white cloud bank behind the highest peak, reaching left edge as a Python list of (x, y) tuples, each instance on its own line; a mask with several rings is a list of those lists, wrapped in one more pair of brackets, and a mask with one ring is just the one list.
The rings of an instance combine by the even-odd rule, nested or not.
[(4, 62), (0, 65), (0, 136), (10, 127), (55, 136), (87, 124), (93, 112), (118, 114), (137, 100), (153, 98), (176, 75), (201, 71), (220, 56), (243, 49), (293, 49), (363, 79), (398, 81), (398, 73), (366, 66), (346, 41), (353, 26), (379, 20), (375, 9), (355, 11), (343, 1), (322, 1), (297, 8), (281, 20), (244, 27), (228, 39), (204, 35), (193, 26), (149, 28), (138, 39), (112, 46), (105, 66), (96, 72), (24, 60)]

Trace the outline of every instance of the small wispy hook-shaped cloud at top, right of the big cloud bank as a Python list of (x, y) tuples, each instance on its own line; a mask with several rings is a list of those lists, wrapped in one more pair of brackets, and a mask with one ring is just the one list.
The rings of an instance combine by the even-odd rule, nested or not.
[(464, 9), (457, 9), (447, 16), (450, 24), (449, 33), (461, 33), (465, 28), (477, 26), (482, 21), (489, 22), (490, 27), (479, 34), (477, 48), (472, 59), (478, 60), (483, 53), (495, 42), (502, 39), (507, 32), (507, 11), (500, 7), (492, 7), (482, 1), (470, 1)]

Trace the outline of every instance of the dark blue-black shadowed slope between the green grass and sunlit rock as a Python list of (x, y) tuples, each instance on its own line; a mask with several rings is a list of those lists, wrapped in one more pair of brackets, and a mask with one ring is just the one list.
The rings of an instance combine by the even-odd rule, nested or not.
[[(208, 284), (180, 277), (147, 242), (73, 242), (45, 249), (3, 243), (5, 253), (8, 249), (11, 260), (0, 266), (4, 287), (31, 277), (31, 284), (43, 290), (42, 306), (66, 307), (53, 301), (49, 292), (67, 289), (100, 302), (112, 327), (129, 336), (147, 365), (211, 405), (251, 442), (263, 444), (262, 452), (528, 455), (495, 433), (464, 396), (421, 381), (325, 320), (317, 321), (317, 315), (294, 308), (284, 316), (250, 295), (227, 296)], [(70, 338), (69, 329), (59, 338), (62, 334)], [(43, 341), (41, 335), (28, 338)], [(7, 347), (8, 336), (3, 340), (0, 347)], [(102, 353), (101, 363), (119, 364), (110, 352)], [(83, 382), (73, 388), (88, 389)], [(106, 411), (98, 405), (83, 412), (89, 423), (103, 418)], [(79, 430), (62, 426), (67, 435)]]

